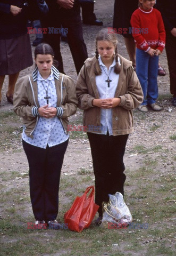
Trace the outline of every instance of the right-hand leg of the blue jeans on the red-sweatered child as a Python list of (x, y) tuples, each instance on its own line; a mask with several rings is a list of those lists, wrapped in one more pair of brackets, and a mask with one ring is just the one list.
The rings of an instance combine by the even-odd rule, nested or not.
[(151, 105), (158, 98), (157, 86), (158, 56), (149, 57), (147, 103)]

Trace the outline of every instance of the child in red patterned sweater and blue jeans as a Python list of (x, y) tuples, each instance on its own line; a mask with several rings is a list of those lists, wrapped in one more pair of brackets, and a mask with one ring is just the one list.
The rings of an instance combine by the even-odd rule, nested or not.
[(144, 101), (138, 107), (147, 112), (147, 105), (155, 111), (162, 108), (156, 104), (158, 97), (158, 55), (165, 46), (165, 29), (161, 13), (153, 9), (155, 1), (139, 0), (139, 8), (131, 16), (131, 30), (135, 38), (136, 73), (143, 88)]

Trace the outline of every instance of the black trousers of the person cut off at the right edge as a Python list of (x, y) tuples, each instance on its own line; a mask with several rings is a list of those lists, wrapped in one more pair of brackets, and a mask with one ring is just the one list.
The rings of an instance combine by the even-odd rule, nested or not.
[(170, 75), (170, 91), (176, 97), (176, 37), (171, 33), (166, 34), (165, 50)]

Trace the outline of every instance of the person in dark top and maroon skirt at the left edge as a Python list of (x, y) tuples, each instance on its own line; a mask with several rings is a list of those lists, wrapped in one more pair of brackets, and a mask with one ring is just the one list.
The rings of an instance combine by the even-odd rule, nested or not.
[(9, 75), (6, 98), (13, 104), (19, 73), (33, 64), (23, 3), (21, 0), (0, 0), (0, 105), (5, 75)]

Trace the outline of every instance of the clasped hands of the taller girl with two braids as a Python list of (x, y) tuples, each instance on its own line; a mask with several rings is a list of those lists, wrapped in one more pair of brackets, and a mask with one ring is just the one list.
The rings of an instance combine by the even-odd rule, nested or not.
[(120, 98), (94, 99), (93, 106), (108, 109), (108, 108), (114, 108), (116, 106), (119, 106), (120, 102), (121, 102)]

